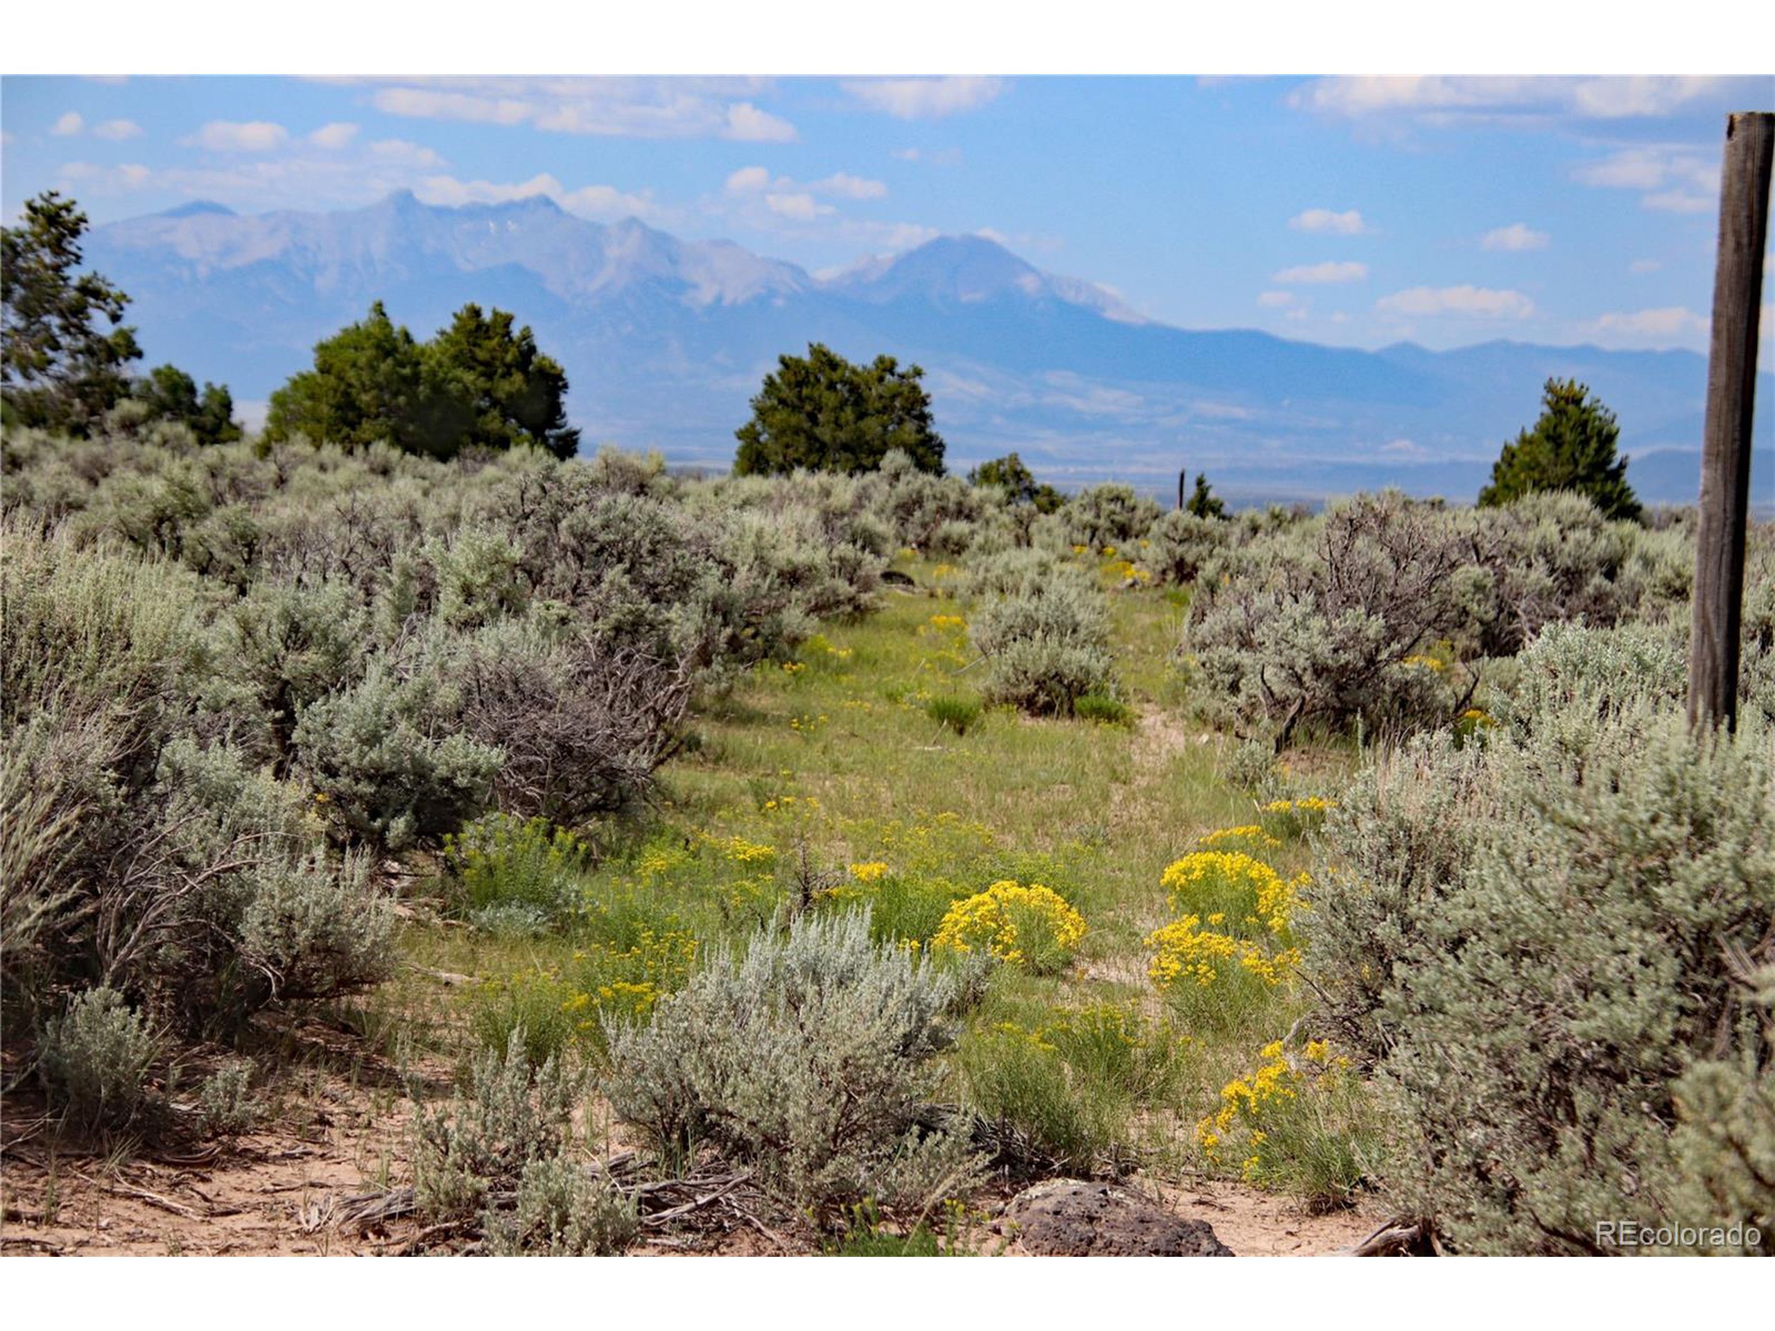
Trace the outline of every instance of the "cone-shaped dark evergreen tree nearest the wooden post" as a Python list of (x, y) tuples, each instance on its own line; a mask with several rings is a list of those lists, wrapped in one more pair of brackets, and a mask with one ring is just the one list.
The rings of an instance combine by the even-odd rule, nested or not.
[(1479, 492), (1482, 508), (1509, 504), (1537, 490), (1574, 490), (1608, 518), (1640, 516), (1640, 500), (1628, 484), (1628, 460), (1615, 456), (1621, 426), (1615, 415), (1576, 380), (1548, 380), (1542, 412), (1491, 469), (1491, 484)]

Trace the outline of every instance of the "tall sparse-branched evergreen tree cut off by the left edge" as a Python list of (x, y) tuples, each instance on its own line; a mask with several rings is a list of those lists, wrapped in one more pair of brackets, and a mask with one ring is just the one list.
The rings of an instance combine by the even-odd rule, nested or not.
[(87, 215), (55, 190), (25, 202), (18, 227), (0, 229), (4, 346), (0, 403), (9, 422), (91, 433), (130, 392), (126, 366), (142, 355), (121, 327), (130, 296), (98, 273), (80, 273)]

